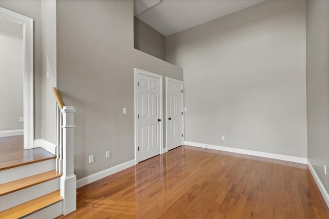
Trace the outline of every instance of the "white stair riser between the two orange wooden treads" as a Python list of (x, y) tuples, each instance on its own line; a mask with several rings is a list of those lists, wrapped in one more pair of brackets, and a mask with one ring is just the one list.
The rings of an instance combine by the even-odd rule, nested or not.
[(3, 195), (0, 197), (0, 211), (4, 211), (59, 189), (60, 178), (55, 178), (54, 180)]

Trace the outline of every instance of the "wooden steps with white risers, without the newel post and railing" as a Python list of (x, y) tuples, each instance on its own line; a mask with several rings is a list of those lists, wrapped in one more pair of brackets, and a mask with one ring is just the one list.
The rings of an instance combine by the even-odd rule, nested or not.
[(56, 156), (0, 169), (0, 218), (54, 218), (61, 215), (61, 176), (56, 171)]

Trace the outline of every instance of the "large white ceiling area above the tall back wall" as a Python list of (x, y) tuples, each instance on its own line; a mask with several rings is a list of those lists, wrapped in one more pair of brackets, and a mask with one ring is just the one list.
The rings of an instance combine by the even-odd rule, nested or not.
[[(137, 4), (139, 1), (141, 0), (135, 0)], [(142, 2), (145, 1), (154, 0)], [(264, 1), (266, 0), (162, 0), (148, 9), (144, 8), (136, 17), (169, 36)]]

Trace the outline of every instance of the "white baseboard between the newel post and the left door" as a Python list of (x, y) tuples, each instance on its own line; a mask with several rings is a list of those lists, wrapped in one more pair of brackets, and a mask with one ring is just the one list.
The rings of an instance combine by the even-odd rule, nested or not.
[(77, 188), (87, 185), (89, 183), (93, 183), (97, 180), (100, 180), (101, 178), (104, 178), (108, 175), (112, 175), (113, 173), (119, 172), (121, 170), (124, 170), (126, 168), (132, 167), (135, 165), (135, 159), (131, 161), (127, 161), (125, 163), (119, 164), (117, 166), (108, 168), (106, 170), (102, 170), (98, 173), (94, 173), (92, 175), (88, 175), (86, 177), (80, 178), (80, 180), (77, 180)]

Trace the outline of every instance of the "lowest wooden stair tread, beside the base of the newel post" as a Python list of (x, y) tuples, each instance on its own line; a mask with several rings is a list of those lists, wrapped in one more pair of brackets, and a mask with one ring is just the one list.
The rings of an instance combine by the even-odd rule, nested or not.
[(63, 198), (60, 194), (60, 190), (57, 190), (44, 196), (35, 198), (29, 202), (1, 211), (0, 218), (21, 218), (46, 208), (52, 204), (58, 203), (62, 200)]

